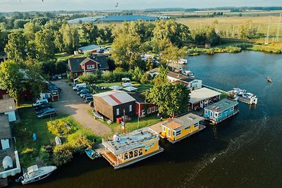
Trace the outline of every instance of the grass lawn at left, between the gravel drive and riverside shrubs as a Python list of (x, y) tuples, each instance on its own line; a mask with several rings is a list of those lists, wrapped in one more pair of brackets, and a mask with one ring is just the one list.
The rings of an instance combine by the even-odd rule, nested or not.
[[(56, 134), (52, 134), (47, 127), (50, 118), (38, 119), (35, 110), (31, 105), (23, 105), (18, 108), (20, 120), (12, 124), (13, 135), (16, 137), (16, 149), (19, 153), (20, 164), (23, 168), (35, 164), (37, 156), (42, 146), (54, 145)], [(83, 129), (78, 123), (68, 115), (57, 115), (52, 118), (53, 123), (57, 121), (66, 121), (75, 126), (75, 130), (82, 132), (90, 140), (97, 138), (97, 142), (101, 139), (92, 134), (89, 130)], [(37, 135), (37, 140), (33, 141), (32, 135)], [(60, 136), (61, 137), (61, 136)], [(63, 138), (63, 140), (65, 140)]]

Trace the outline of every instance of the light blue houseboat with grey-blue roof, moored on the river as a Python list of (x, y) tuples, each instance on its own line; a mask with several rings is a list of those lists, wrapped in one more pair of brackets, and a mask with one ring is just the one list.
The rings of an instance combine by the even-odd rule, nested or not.
[(238, 113), (238, 102), (228, 99), (223, 99), (204, 108), (204, 118), (212, 121), (213, 124), (220, 123), (236, 113)]

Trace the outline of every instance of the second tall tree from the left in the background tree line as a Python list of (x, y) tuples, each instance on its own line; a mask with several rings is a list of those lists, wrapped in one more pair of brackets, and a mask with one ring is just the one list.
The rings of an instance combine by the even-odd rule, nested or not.
[(35, 34), (35, 46), (40, 60), (49, 60), (55, 56), (54, 35), (51, 30), (40, 30)]

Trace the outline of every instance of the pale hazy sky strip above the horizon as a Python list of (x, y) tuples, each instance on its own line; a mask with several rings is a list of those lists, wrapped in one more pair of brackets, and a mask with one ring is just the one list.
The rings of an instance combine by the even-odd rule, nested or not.
[[(145, 8), (212, 8), (219, 6), (282, 6), (282, 0), (0, 0), (0, 12), (107, 11)], [(118, 7), (115, 7), (118, 3)]]

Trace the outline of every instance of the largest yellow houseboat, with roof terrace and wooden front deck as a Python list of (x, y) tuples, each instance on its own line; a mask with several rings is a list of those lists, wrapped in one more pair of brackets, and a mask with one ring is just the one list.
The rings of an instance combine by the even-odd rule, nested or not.
[(102, 144), (103, 157), (115, 170), (164, 151), (159, 146), (159, 134), (148, 127), (125, 135), (114, 134), (111, 139), (103, 139)]

